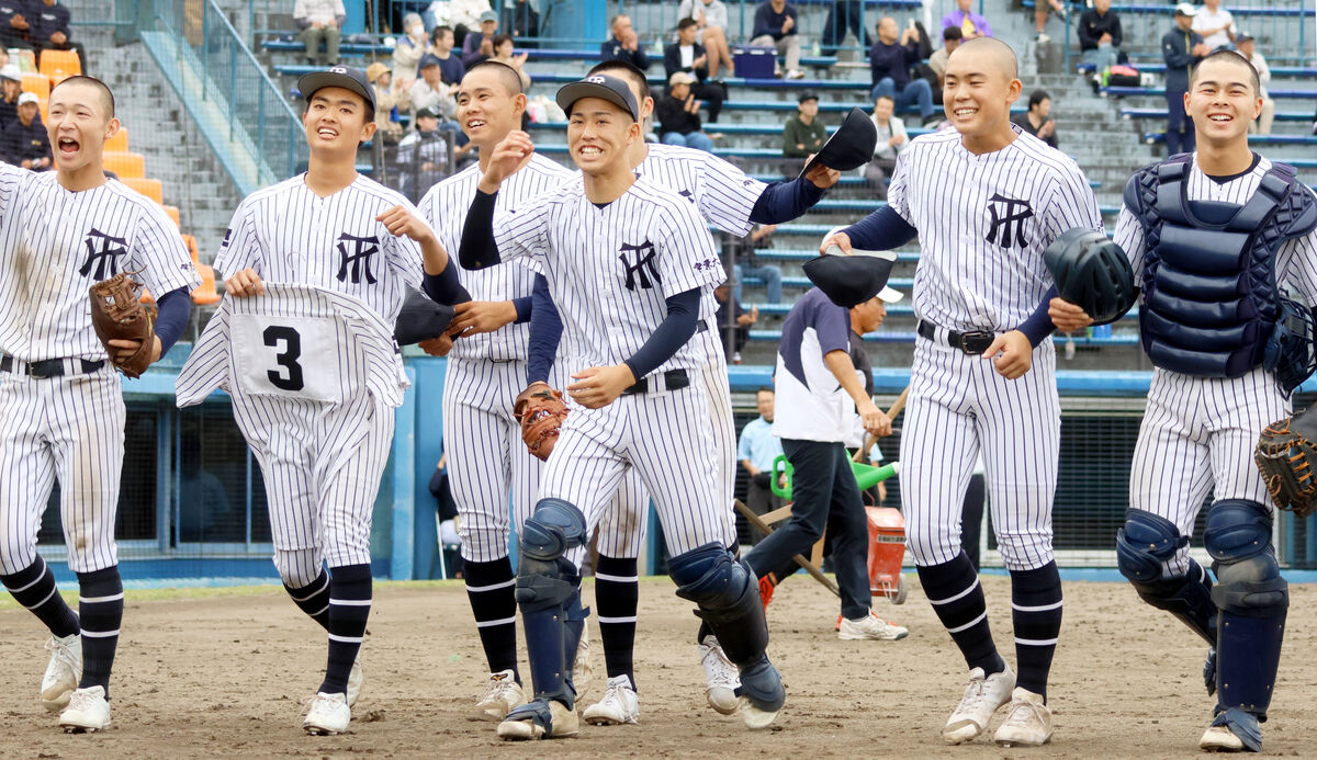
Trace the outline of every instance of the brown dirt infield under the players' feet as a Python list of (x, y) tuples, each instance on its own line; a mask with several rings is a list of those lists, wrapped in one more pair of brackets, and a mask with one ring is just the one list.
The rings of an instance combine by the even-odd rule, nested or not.
[[(911, 576), (913, 580), (913, 576)], [(1011, 652), (1009, 589), (985, 576), (994, 632)], [(705, 706), (691, 643), (695, 618), (666, 579), (641, 584), (636, 652), (640, 726), (582, 726), (576, 739), (506, 746), (494, 724), (465, 719), (483, 656), (460, 585), (377, 590), (365, 650), (366, 689), (353, 732), (303, 735), (299, 707), (319, 684), (324, 635), (275, 588), (213, 598), (129, 593), (105, 734), (71, 736), (41, 710), (43, 634), (21, 609), (0, 611), (0, 755), (13, 757), (250, 756), (849, 756), (1184, 757), (1210, 719), (1198, 676), (1204, 647), (1123, 584), (1065, 584), (1065, 623), (1052, 669), (1056, 735), (1042, 749), (984, 739), (947, 748), (938, 730), (964, 668), (918, 588), (877, 609), (910, 629), (902, 642), (839, 642), (836, 601), (806, 577), (780, 586), (769, 623), (788, 684), (774, 730), (749, 734)], [(1317, 738), (1317, 588), (1292, 588), (1289, 635), (1266, 731), (1267, 753), (1305, 756)], [(603, 686), (598, 629), (594, 677)], [(1013, 653), (1008, 655), (1013, 660)], [(524, 655), (523, 655), (524, 661)], [(998, 721), (1001, 714), (998, 714)]]

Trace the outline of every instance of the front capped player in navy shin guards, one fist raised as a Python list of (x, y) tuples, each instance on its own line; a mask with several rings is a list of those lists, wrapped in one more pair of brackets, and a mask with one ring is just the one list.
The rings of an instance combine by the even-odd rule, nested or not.
[[(462, 235), (466, 268), (502, 256), (544, 275), (565, 321), (564, 364), (572, 414), (522, 530), (518, 601), (527, 627), (535, 700), (508, 713), (504, 739), (574, 734), (576, 692), (566, 671), (566, 621), (579, 607), (579, 576), (565, 555), (589, 536), (624, 469), (655, 494), (678, 594), (695, 601), (741, 673), (741, 714), (772, 722), (785, 697), (768, 661), (753, 579), (726, 548), (726, 508), (705, 391), (687, 344), (722, 279), (712, 239), (694, 208), (631, 168), (640, 110), (622, 80), (594, 75), (558, 91), (568, 143), (582, 179), (507, 213), (490, 229), (494, 195), (532, 151), (515, 131), (491, 156)], [(489, 195), (487, 195), (489, 193)], [(681, 477), (673, 477), (673, 473)]]

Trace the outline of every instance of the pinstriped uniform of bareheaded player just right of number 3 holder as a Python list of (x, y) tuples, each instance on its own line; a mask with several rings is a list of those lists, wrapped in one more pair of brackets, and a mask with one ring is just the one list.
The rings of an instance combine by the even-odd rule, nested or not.
[[(515, 209), (570, 178), (569, 170), (536, 154), (503, 183), (497, 208)], [(479, 166), (473, 164), (436, 184), (419, 204), (448, 251), (456, 252), (461, 243), (479, 180)], [(454, 258), (450, 266), (461, 264)], [(490, 267), (461, 270), (461, 280), (475, 301), (507, 301), (529, 296), (535, 275), (525, 267)], [(512, 401), (525, 388), (528, 331), (525, 323), (512, 323), (462, 337), (448, 354), (444, 448), (468, 560), (507, 556), (511, 525), (520, 526), (531, 515), (539, 494), (541, 463), (525, 450), (520, 423), (512, 417)], [(561, 387), (565, 375), (554, 375), (553, 385)]]

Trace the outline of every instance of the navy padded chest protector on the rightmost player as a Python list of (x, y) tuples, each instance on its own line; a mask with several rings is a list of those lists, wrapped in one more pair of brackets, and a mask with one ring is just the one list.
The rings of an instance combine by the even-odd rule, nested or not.
[(1164, 369), (1238, 377), (1258, 367), (1280, 313), (1276, 252), (1317, 227), (1317, 202), (1276, 163), (1243, 205), (1191, 201), (1189, 155), (1139, 170), (1125, 204), (1143, 227), (1143, 350)]

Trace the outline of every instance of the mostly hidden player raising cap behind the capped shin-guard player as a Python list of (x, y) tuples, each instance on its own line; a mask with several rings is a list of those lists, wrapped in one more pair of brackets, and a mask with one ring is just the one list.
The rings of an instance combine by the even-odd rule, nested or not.
[[(645, 75), (639, 68), (623, 60), (610, 60), (591, 68), (590, 75), (616, 76), (626, 82), (640, 105), (641, 124), (649, 118), (653, 112), (653, 97), (649, 95)], [(799, 217), (818, 202), (823, 192), (840, 176), (836, 171), (819, 166), (806, 178), (765, 185), (710, 153), (645, 142), (631, 146), (628, 160), (641, 176), (693, 201), (707, 224), (732, 231), (738, 237), (749, 234), (755, 224), (778, 224)], [(557, 347), (561, 331), (554, 304), (547, 293), (547, 288), (536, 289), (539, 297), (532, 309), (528, 375), (532, 385), (548, 381), (553, 350)], [(712, 309), (711, 304), (709, 306)], [(543, 337), (537, 339), (537, 334)], [(709, 398), (710, 417), (714, 419), (719, 504), (727, 508), (726, 542), (735, 551), (736, 521), (732, 493), (736, 483), (736, 430), (731, 389), (727, 384), (727, 359), (716, 330), (701, 329), (694, 341), (695, 348), (705, 358), (699, 376)], [(644, 542), (649, 496), (632, 480), (624, 479), (624, 487), (619, 490), (620, 502), (606, 510), (599, 522), (595, 605), (608, 686), (603, 698), (582, 713), (586, 721), (598, 724), (635, 723), (639, 715), (633, 668), (639, 597), (636, 558)], [(726, 657), (707, 625), (699, 627), (697, 644), (705, 668), (706, 697), (710, 706), (723, 714), (734, 713), (738, 706), (735, 689), (739, 685), (735, 665)]]

